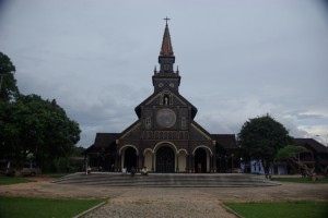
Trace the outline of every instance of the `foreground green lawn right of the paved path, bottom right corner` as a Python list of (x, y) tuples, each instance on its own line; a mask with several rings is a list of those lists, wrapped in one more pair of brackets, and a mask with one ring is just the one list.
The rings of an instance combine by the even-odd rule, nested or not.
[(328, 202), (225, 203), (246, 218), (326, 218)]

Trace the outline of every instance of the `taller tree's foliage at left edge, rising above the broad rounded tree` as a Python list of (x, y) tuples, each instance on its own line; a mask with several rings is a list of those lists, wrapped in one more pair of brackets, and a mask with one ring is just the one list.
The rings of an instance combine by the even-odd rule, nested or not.
[(15, 72), (15, 66), (10, 58), (0, 52), (0, 102), (8, 102), (19, 94), (13, 72)]

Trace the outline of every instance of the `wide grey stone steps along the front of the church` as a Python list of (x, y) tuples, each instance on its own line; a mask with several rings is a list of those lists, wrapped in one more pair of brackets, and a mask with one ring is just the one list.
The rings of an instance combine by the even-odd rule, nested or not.
[(243, 187), (279, 185), (263, 175), (243, 173), (150, 173), (149, 175), (117, 172), (77, 172), (54, 181), (57, 184), (99, 186), (152, 186), (152, 187)]

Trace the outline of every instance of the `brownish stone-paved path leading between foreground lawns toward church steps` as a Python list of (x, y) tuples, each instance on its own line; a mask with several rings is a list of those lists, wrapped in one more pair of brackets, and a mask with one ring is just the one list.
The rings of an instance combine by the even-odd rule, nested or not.
[(216, 197), (199, 190), (131, 189), (108, 199), (107, 204), (82, 216), (84, 218), (235, 218)]

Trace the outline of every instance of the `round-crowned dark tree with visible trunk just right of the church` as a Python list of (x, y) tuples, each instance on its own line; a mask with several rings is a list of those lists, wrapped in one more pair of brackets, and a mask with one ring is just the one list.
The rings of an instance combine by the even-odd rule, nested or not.
[(269, 114), (249, 119), (238, 133), (238, 143), (249, 158), (262, 161), (266, 174), (278, 150), (291, 142), (289, 132)]

